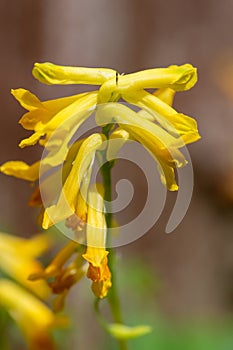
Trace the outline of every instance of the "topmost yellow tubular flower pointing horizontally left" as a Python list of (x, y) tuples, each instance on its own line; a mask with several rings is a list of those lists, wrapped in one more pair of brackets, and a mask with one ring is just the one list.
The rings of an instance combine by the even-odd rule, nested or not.
[(116, 71), (108, 68), (58, 66), (53, 63), (35, 63), (33, 76), (44, 84), (100, 85), (115, 77)]

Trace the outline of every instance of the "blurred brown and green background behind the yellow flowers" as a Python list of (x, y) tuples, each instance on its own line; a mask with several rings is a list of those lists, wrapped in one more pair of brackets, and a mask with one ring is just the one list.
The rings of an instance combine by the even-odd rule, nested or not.
[[(27, 132), (17, 124), (23, 110), (11, 88), (24, 87), (42, 100), (84, 89), (42, 86), (31, 75), (34, 62), (125, 73), (183, 63), (198, 68), (198, 84), (175, 98), (175, 108), (197, 119), (202, 136), (189, 147), (195, 187), (187, 215), (165, 234), (171, 194), (153, 229), (118, 249), (125, 320), (153, 327), (131, 349), (233, 348), (232, 32), (231, 0), (0, 0), (1, 163), (31, 163), (40, 154), (18, 148)], [(136, 213), (146, 183), (130, 166), (118, 171), (116, 178), (132, 177)], [(36, 213), (27, 207), (28, 183), (0, 179), (1, 229), (25, 237), (38, 232)], [(92, 300), (86, 285), (73, 289), (72, 328), (61, 336), (61, 349), (114, 349), (96, 324)]]

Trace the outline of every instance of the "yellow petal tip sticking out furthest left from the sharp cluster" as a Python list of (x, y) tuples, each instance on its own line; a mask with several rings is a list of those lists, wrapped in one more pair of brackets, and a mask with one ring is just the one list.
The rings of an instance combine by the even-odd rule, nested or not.
[(6, 162), (0, 167), (0, 171), (6, 175), (11, 175), (27, 181), (36, 181), (39, 178), (40, 162), (28, 165), (21, 161)]

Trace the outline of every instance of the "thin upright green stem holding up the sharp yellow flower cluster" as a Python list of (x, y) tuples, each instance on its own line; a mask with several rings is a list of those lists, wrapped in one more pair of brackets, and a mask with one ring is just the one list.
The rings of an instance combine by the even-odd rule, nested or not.
[[(109, 138), (109, 131), (111, 130), (111, 125), (107, 125), (103, 128), (103, 133)], [(103, 155), (105, 158), (105, 154)], [(106, 161), (106, 158), (104, 159), (105, 163), (101, 167), (101, 174), (103, 177), (103, 185), (104, 185), (104, 200), (106, 205), (106, 213), (105, 213), (105, 219), (106, 219), (106, 225), (107, 225), (107, 231), (111, 230), (112, 227), (112, 213), (111, 213), (111, 201), (112, 201), (112, 180), (111, 180), (111, 169), (114, 165), (112, 161)], [(108, 237), (108, 245), (109, 244), (109, 237), (110, 234), (107, 232)], [(112, 274), (112, 287), (110, 291), (108, 292), (108, 302), (112, 311), (114, 322), (116, 323), (123, 323), (122, 322), (122, 315), (121, 315), (121, 308), (120, 308), (120, 300), (118, 296), (118, 290), (116, 285), (116, 278), (115, 278), (115, 252), (111, 248), (109, 249), (109, 256), (108, 256), (108, 265), (109, 269)], [(118, 346), (120, 350), (127, 350), (127, 343), (125, 340), (118, 340)]]

